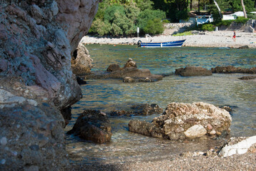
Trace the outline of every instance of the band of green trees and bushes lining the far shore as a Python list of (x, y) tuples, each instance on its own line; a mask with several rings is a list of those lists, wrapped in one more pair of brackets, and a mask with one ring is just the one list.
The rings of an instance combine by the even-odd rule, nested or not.
[[(187, 21), (191, 4), (194, 11), (212, 14), (214, 26), (229, 26), (233, 21), (222, 21), (222, 14), (242, 11), (241, 0), (216, 1), (221, 14), (213, 0), (103, 0), (99, 3), (89, 33), (99, 36), (135, 36), (139, 27), (141, 35), (159, 34), (164, 31), (164, 23), (179, 22), (180, 19)], [(255, 19), (250, 11), (255, 11), (256, 0), (243, 1), (248, 17)], [(238, 18), (235, 22), (246, 21)], [(210, 31), (214, 29), (213, 25), (200, 26), (200, 29)]]

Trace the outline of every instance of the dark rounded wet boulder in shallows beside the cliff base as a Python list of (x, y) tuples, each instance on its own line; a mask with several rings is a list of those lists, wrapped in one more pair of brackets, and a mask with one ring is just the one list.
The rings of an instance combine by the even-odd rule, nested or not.
[(112, 137), (109, 120), (99, 110), (84, 110), (68, 134), (79, 135), (84, 140), (96, 143), (109, 142)]

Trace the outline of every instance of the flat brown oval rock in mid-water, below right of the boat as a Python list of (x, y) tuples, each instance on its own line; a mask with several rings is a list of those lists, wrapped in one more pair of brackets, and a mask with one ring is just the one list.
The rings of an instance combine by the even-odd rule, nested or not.
[(175, 70), (176, 75), (180, 76), (212, 76), (212, 72), (199, 66), (187, 66)]

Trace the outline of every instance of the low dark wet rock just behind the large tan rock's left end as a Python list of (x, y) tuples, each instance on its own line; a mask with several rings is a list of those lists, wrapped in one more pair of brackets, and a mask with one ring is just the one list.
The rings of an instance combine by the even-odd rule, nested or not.
[(109, 115), (152, 115), (162, 113), (162, 108), (157, 104), (132, 105), (130, 110), (112, 110)]

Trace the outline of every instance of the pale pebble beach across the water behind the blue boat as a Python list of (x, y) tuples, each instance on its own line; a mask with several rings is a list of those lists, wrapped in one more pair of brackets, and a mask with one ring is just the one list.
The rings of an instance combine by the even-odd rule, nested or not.
[[(192, 36), (171, 36), (171, 35), (159, 35), (153, 36), (153, 42), (164, 42), (164, 41), (175, 41), (186, 38), (183, 46), (192, 47), (230, 47), (238, 48), (241, 46), (249, 46), (250, 48), (256, 48), (256, 33), (245, 33), (241, 31), (236, 31), (237, 38), (236, 41), (232, 40), (233, 31), (206, 31), (202, 34), (195, 34)], [(88, 44), (129, 44), (137, 45), (137, 42), (141, 40), (142, 42), (147, 42), (150, 39), (145, 37), (134, 37), (134, 38), (107, 38), (107, 37), (94, 37), (94, 36), (84, 36), (82, 38), (82, 43)]]

